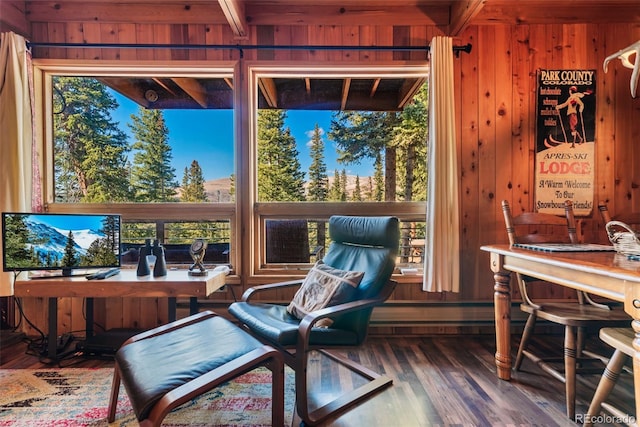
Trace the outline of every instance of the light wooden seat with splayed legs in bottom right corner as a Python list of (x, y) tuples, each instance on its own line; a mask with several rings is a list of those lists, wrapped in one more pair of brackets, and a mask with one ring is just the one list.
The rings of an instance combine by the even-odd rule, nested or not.
[[(584, 419), (585, 426), (593, 425), (593, 420), (600, 414), (601, 409), (605, 409), (619, 420), (632, 419), (629, 414), (625, 414), (611, 403), (606, 403), (605, 400), (609, 397), (609, 393), (611, 393), (611, 390), (613, 390), (613, 387), (616, 385), (616, 381), (618, 381), (618, 377), (625, 363), (633, 356), (634, 335), (633, 329), (631, 328), (603, 328), (600, 330), (600, 339), (613, 347), (615, 352), (602, 373), (602, 378), (600, 378), (596, 392), (593, 395), (591, 405), (589, 405), (589, 410)], [(637, 415), (638, 414), (636, 414), (636, 416)]]

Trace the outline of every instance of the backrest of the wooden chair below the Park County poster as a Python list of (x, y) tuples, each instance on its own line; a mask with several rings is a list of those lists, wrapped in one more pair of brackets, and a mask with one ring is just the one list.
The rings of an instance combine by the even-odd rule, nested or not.
[(509, 244), (515, 243), (578, 243), (573, 204), (565, 201), (565, 215), (539, 212), (511, 213), (509, 202), (502, 201), (502, 213), (507, 227)]

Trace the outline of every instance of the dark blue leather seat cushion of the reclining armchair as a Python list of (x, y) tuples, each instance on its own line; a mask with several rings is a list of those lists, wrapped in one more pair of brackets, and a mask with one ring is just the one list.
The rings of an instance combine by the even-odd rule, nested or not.
[[(274, 304), (234, 302), (229, 313), (249, 327), (253, 334), (266, 338), (282, 347), (293, 347), (298, 340), (300, 320), (287, 312), (287, 307)], [(335, 328), (313, 328), (311, 346), (354, 346), (360, 343), (358, 335)]]

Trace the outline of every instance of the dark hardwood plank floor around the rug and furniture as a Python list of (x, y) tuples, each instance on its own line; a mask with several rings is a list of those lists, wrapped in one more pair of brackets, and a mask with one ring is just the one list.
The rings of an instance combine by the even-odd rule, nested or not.
[[(514, 337), (514, 345), (517, 338)], [(561, 348), (560, 336), (534, 338), (536, 348), (550, 353)], [(589, 342), (610, 354), (597, 338)], [(25, 354), (24, 342), (1, 348), (0, 368), (43, 368), (38, 357)], [(327, 426), (575, 426), (566, 418), (564, 384), (552, 379), (529, 360), (511, 381), (499, 380), (491, 335), (432, 337), (370, 337), (361, 348), (344, 352), (377, 372), (393, 378), (393, 386), (346, 412)], [(75, 357), (63, 366), (109, 367), (111, 360)], [(598, 366), (600, 371), (600, 366)], [(336, 369), (319, 354), (309, 366), (315, 402), (352, 387), (358, 378)], [(600, 375), (586, 375), (577, 385), (576, 414), (582, 416)], [(633, 377), (621, 375), (612, 399), (627, 411), (633, 407)], [(615, 425), (600, 423), (596, 425)]]

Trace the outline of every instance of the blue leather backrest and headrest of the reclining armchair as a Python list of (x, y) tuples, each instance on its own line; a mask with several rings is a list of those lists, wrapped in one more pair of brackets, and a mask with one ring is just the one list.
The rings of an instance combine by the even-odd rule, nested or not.
[[(331, 244), (323, 261), (334, 268), (362, 271), (356, 299), (375, 298), (390, 282), (398, 256), (400, 228), (395, 217), (334, 215), (329, 219)], [(334, 319), (334, 328), (366, 336), (372, 309)]]

